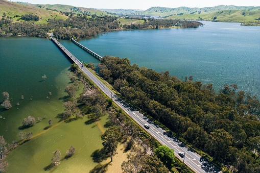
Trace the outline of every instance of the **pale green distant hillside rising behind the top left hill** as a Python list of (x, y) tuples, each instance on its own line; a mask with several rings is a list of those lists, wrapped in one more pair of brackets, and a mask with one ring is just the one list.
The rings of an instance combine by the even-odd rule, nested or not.
[(101, 10), (97, 9), (92, 9), (92, 8), (84, 8), (84, 7), (74, 7), (74, 6), (69, 6), (69, 5), (61, 5), (61, 4), (55, 4), (55, 5), (50, 5), (50, 4), (29, 4), (29, 3), (20, 3), (20, 4), (25, 4), (27, 6), (31, 7), (37, 7), (41, 9), (52, 9), (55, 11), (62, 11), (62, 12), (73, 12), (73, 13), (88, 13), (88, 15), (96, 14), (96, 15), (106, 15), (107, 13)]

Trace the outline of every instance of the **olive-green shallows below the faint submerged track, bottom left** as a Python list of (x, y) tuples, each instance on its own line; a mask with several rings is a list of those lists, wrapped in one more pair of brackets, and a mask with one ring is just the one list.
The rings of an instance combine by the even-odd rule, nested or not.
[[(102, 125), (107, 116), (99, 121)], [(32, 140), (20, 145), (8, 155), (8, 172), (89, 172), (98, 163), (93, 162), (91, 154), (103, 148), (101, 131), (96, 122), (85, 125), (87, 118), (78, 119), (46, 131)], [(64, 159), (56, 168), (44, 170), (51, 163), (53, 152), (60, 150), (62, 158), (73, 145), (76, 154)]]

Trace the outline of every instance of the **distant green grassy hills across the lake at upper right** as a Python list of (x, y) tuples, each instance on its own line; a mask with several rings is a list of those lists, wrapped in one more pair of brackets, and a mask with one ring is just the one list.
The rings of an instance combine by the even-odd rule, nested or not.
[[(259, 22), (260, 7), (216, 6), (205, 8), (164, 8), (152, 7), (144, 15), (173, 19), (215, 20), (222, 22)], [(214, 19), (215, 18), (215, 19)]]

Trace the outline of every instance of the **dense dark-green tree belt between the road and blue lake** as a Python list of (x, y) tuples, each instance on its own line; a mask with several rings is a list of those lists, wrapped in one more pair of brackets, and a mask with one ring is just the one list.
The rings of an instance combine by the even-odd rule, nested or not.
[(98, 65), (133, 106), (144, 110), (177, 136), (208, 153), (232, 172), (259, 172), (260, 103), (235, 84), (215, 92), (193, 77), (181, 81), (169, 71), (131, 65), (105, 56)]

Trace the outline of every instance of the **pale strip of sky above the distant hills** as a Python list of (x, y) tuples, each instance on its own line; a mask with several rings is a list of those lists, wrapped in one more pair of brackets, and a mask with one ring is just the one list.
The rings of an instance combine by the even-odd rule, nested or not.
[[(96, 9), (141, 9), (151, 7), (214, 7), (219, 5), (260, 6), (259, 0), (18, 0), (31, 4), (63, 4)], [(16, 1), (15, 1), (16, 2)]]

